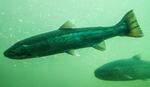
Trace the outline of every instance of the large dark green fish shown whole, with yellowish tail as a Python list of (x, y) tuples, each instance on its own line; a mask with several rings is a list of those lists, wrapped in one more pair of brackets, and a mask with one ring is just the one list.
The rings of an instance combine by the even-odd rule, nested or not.
[(73, 23), (67, 21), (57, 30), (16, 42), (3, 54), (11, 59), (26, 59), (58, 53), (76, 55), (76, 49), (85, 47), (104, 51), (106, 49), (104, 40), (115, 36), (135, 38), (143, 36), (133, 10), (127, 12), (117, 24), (109, 27), (77, 28)]

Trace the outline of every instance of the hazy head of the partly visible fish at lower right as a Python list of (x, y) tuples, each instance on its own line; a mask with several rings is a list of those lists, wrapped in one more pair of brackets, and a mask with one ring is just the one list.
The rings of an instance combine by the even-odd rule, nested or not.
[(94, 74), (95, 77), (102, 80), (123, 81), (129, 79), (125, 76), (123, 68), (118, 66), (102, 66), (96, 69)]

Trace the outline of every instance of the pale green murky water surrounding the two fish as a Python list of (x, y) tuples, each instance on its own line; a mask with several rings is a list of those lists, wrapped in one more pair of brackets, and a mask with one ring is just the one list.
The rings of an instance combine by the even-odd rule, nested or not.
[[(150, 60), (149, 0), (1, 0), (0, 87), (149, 87), (149, 81), (103, 81), (94, 70), (112, 60), (141, 54)], [(106, 40), (106, 51), (77, 50), (27, 60), (12, 60), (4, 50), (18, 40), (58, 29), (65, 21), (76, 27), (110, 26), (133, 9), (142, 38), (115, 37)]]

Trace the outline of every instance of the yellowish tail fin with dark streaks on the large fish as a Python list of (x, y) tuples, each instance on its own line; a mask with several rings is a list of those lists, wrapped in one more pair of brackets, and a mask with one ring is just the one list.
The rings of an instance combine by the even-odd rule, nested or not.
[(118, 24), (125, 23), (128, 29), (128, 32), (125, 34), (126, 36), (130, 37), (142, 37), (143, 32), (137, 22), (137, 19), (134, 15), (133, 10), (129, 11), (119, 22)]

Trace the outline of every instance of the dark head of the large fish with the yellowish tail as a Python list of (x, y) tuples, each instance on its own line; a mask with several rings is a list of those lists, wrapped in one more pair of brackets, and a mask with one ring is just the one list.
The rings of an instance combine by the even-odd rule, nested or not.
[(25, 59), (31, 57), (32, 55), (27, 50), (26, 45), (16, 43), (4, 52), (4, 56), (11, 59)]

